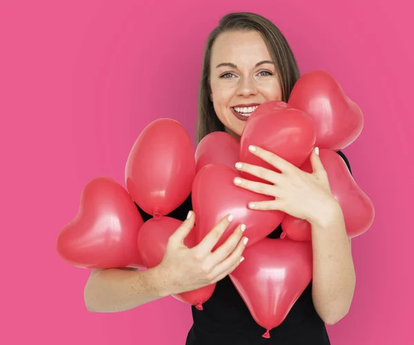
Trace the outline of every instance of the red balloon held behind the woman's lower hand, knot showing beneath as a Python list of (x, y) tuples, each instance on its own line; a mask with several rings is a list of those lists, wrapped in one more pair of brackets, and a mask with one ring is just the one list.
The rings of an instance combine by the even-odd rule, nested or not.
[[(152, 268), (161, 263), (166, 252), (168, 239), (181, 224), (180, 220), (166, 216), (161, 216), (159, 219), (151, 218), (144, 223), (139, 231), (138, 248), (146, 267)], [(195, 246), (195, 229), (190, 231), (184, 244), (188, 248)], [(215, 286), (216, 284), (210, 284), (200, 289), (172, 295), (172, 297), (202, 310), (202, 304), (213, 295)]]

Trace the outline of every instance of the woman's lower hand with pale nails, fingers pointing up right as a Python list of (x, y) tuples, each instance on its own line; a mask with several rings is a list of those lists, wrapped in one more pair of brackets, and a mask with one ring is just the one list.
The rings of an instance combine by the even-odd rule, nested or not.
[(195, 222), (195, 213), (188, 213), (188, 218), (170, 236), (164, 258), (155, 267), (159, 281), (168, 295), (213, 284), (230, 274), (244, 260), (242, 253), (248, 240), (242, 239), (246, 229), (244, 224), (239, 224), (226, 242), (212, 252), (231, 220), (230, 215), (221, 219), (197, 246), (188, 248), (184, 239)]

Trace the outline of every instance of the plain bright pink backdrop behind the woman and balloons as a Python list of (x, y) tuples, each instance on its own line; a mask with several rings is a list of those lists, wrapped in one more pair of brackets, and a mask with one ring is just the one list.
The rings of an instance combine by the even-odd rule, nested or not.
[(172, 297), (88, 313), (89, 272), (63, 262), (55, 243), (86, 182), (124, 185), (129, 150), (150, 121), (175, 118), (194, 134), (206, 36), (226, 12), (247, 10), (279, 25), (302, 73), (333, 74), (364, 112), (362, 135), (344, 152), (376, 218), (353, 240), (355, 297), (328, 326), (331, 342), (414, 344), (408, 3), (0, 1), (0, 343), (184, 344), (190, 308)]

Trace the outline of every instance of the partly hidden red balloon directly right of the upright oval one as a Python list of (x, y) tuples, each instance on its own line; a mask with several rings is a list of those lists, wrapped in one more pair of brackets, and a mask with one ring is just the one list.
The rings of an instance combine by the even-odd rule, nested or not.
[(224, 164), (234, 169), (239, 161), (240, 143), (226, 132), (213, 132), (202, 138), (195, 150), (196, 172), (208, 164)]

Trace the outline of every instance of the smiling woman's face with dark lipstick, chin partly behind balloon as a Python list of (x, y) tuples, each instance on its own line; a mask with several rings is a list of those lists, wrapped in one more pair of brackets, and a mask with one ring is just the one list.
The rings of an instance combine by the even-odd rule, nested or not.
[(210, 87), (218, 118), (237, 138), (258, 105), (282, 100), (276, 66), (255, 31), (224, 32), (217, 37), (210, 59)]

